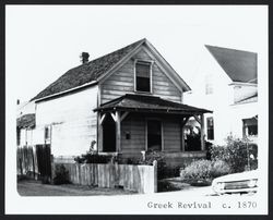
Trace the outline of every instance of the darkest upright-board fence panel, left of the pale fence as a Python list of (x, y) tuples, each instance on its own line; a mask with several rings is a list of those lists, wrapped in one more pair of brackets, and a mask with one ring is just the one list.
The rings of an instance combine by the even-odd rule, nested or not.
[(38, 172), (43, 182), (51, 181), (51, 150), (50, 145), (36, 145)]

